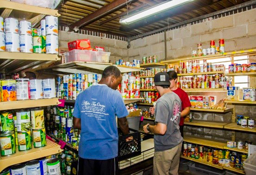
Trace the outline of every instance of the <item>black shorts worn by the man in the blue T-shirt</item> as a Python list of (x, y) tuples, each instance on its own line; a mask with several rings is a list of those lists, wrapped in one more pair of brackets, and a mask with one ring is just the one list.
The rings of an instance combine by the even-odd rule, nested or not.
[(118, 175), (117, 158), (108, 160), (78, 159), (77, 175)]

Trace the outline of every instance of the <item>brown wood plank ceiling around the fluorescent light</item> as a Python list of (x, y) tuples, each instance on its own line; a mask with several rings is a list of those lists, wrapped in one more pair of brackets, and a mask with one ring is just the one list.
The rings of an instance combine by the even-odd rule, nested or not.
[[(59, 23), (61, 26), (71, 26), (80, 19), (94, 13), (96, 10), (113, 1), (114, 0), (63, 0), (57, 7), (61, 14)], [(108, 13), (86, 26), (82, 26), (81, 29), (131, 37), (213, 13), (249, 0), (194, 0), (183, 6), (168, 10), (167, 12), (154, 15), (148, 19), (143, 19), (135, 24), (122, 26), (119, 23), (119, 20), (124, 18), (127, 14), (137, 13), (164, 1), (166, 0), (132, 0), (129, 3), (125, 3), (116, 11)]]

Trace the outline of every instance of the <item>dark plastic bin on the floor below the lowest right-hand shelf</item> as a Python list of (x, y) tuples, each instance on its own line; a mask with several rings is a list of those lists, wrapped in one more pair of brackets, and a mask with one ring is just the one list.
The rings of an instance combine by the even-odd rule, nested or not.
[(225, 175), (225, 171), (211, 168), (206, 165), (192, 163), (189, 165), (189, 172), (192, 175)]

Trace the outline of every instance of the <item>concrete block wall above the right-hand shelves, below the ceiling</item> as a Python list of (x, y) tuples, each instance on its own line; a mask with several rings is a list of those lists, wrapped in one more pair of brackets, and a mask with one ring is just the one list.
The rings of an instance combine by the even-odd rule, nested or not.
[[(215, 40), (218, 45), (221, 38), (225, 39), (226, 52), (256, 48), (255, 28), (256, 9), (251, 9), (167, 31), (166, 59), (191, 56), (192, 50), (197, 50), (198, 43), (202, 43), (202, 48), (209, 48), (210, 40)], [(157, 55), (159, 60), (165, 58), (163, 32), (131, 41), (131, 48), (128, 49), (130, 59), (152, 55)]]

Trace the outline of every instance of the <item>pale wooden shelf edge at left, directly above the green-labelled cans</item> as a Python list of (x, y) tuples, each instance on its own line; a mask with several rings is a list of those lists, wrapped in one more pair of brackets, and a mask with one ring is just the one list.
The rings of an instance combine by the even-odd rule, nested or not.
[(12, 102), (0, 102), (0, 110), (15, 110), (22, 108), (35, 108), (40, 106), (51, 106), (60, 104), (58, 98), (47, 98), (38, 100), (18, 100)]

